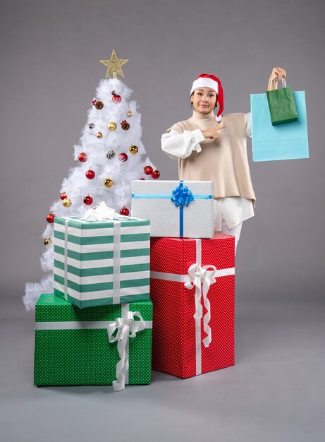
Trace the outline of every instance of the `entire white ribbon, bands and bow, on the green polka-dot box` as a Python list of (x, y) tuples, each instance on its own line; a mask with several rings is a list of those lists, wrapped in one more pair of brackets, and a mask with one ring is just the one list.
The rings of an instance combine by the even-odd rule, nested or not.
[[(129, 338), (135, 338), (136, 334), (145, 328), (152, 328), (152, 321), (144, 321), (138, 311), (130, 311), (130, 304), (121, 304), (121, 318), (115, 321), (54, 321), (36, 322), (36, 330), (98, 330), (107, 329), (109, 342), (118, 342), (118, 356), (120, 360), (116, 364), (116, 381), (113, 381), (113, 390), (121, 391), (128, 384), (129, 368)], [(140, 321), (135, 321), (135, 317)], [(114, 331), (118, 330), (116, 336)]]

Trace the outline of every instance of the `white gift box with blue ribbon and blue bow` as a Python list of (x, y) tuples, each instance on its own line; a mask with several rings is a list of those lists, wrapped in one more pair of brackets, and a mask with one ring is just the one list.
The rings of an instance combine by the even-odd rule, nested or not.
[(151, 223), (152, 237), (211, 238), (212, 181), (132, 181), (131, 215)]

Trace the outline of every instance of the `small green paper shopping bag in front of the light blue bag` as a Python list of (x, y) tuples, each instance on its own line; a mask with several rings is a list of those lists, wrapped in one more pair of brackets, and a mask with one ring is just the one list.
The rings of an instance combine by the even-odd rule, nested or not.
[[(298, 120), (297, 107), (295, 105), (295, 97), (290, 86), (286, 85), (286, 80), (281, 78), (282, 88), (266, 91), (267, 102), (269, 103), (269, 111), (272, 126), (276, 124), (292, 123)], [(274, 81), (271, 81), (274, 85)]]

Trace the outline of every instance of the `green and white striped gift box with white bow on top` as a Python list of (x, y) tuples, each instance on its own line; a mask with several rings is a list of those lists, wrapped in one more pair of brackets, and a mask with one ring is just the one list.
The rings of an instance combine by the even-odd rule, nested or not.
[(150, 221), (55, 217), (54, 293), (78, 307), (149, 300)]

